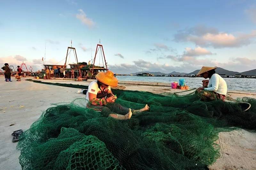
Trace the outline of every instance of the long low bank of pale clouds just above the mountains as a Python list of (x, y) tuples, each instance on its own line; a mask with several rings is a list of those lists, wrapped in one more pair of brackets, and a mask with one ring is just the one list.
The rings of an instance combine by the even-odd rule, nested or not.
[(172, 71), (177, 71), (177, 72), (190, 73), (194, 70), (198, 70), (202, 68), (202, 66), (211, 66), (211, 67), (216, 66), (226, 70), (238, 71), (238, 72), (253, 70), (256, 68), (256, 60), (248, 59), (246, 57), (232, 58), (225, 63), (220, 63), (212, 58), (196, 58), (196, 57), (189, 57), (189, 56), (177, 57), (177, 56), (168, 55), (163, 58), (174, 59), (178, 63), (180, 62), (180, 64), (173, 64), (173, 62), (168, 62), (168, 61), (166, 61), (164, 64), (151, 63), (151, 62), (139, 59), (139, 60), (133, 61), (134, 64), (122, 63), (122, 64), (109, 65), (109, 69), (112, 70), (114, 73), (129, 74), (134, 72), (140, 72), (142, 69), (145, 72), (161, 71), (164, 73), (170, 73)]

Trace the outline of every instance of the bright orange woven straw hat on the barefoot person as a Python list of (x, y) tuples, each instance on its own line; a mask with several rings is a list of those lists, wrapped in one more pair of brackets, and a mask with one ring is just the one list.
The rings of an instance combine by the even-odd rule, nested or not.
[(112, 87), (117, 86), (117, 78), (114, 77), (114, 73), (112, 71), (107, 72), (99, 72), (96, 76), (97, 80), (106, 85), (110, 85)]

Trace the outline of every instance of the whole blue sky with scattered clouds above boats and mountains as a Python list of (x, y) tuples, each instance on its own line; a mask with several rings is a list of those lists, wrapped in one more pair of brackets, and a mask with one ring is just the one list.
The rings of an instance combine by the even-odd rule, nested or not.
[(256, 69), (254, 0), (1, 0), (1, 7), (0, 65), (41, 70), (44, 54), (46, 64), (64, 65), (72, 40), (78, 62), (92, 60), (100, 41), (118, 74)]

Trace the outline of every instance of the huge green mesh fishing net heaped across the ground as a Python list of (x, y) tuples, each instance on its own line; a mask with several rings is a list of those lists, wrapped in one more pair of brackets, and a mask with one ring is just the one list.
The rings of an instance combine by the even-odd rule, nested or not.
[(243, 112), (236, 103), (202, 102), (195, 92), (112, 91), (116, 103), (150, 110), (116, 120), (107, 115), (121, 114), (118, 108), (96, 112), (85, 98), (52, 104), (19, 138), (21, 168), (206, 169), (220, 156), (220, 131), (256, 129), (255, 99), (238, 99), (252, 105)]

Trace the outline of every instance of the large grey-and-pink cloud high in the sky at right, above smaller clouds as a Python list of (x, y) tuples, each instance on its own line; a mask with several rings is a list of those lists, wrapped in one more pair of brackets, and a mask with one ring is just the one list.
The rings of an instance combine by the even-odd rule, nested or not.
[(178, 31), (174, 35), (176, 42), (193, 42), (198, 46), (214, 48), (241, 47), (251, 43), (256, 37), (256, 30), (251, 33), (231, 33), (219, 32), (216, 28), (195, 26), (190, 29)]

